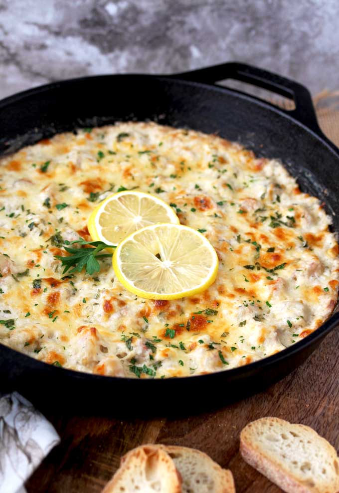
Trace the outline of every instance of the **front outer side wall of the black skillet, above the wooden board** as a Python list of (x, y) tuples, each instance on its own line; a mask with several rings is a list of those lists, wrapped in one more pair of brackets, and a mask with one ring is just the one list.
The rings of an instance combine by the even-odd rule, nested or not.
[(280, 353), (271, 361), (266, 358), (262, 365), (166, 380), (100, 377), (60, 370), (0, 344), (1, 392), (16, 390), (46, 413), (67, 405), (69, 411), (82, 415), (194, 415), (239, 401), (278, 382), (300, 366), (324, 337), (325, 334), (289, 356)]

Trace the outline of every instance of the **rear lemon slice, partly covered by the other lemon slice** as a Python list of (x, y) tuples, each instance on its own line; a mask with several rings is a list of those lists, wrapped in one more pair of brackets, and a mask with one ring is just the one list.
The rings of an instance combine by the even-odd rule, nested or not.
[(87, 227), (94, 241), (116, 246), (131, 233), (158, 223), (178, 224), (173, 209), (149, 193), (125, 190), (107, 197), (91, 213)]

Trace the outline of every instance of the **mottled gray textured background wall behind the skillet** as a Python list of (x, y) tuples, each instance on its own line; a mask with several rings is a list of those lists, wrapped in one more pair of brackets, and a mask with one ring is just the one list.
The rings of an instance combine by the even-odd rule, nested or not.
[(227, 60), (339, 89), (339, 0), (0, 0), (0, 98), (48, 81)]

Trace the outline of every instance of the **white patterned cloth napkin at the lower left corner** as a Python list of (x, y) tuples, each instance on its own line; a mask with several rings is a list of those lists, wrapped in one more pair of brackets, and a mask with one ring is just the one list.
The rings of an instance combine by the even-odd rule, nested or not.
[(60, 442), (49, 421), (17, 392), (0, 398), (0, 493), (25, 493), (24, 482)]

